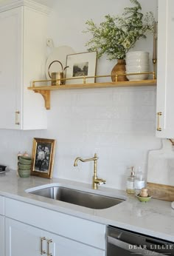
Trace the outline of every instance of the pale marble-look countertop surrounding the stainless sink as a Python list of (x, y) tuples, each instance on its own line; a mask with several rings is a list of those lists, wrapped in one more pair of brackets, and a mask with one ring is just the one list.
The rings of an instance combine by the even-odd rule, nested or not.
[[(27, 189), (37, 186), (44, 187), (52, 183), (87, 192), (114, 196), (125, 199), (125, 201), (108, 209), (89, 209), (26, 192)], [(124, 191), (109, 189), (105, 185), (100, 186), (97, 191), (94, 191), (94, 189), (91, 189), (90, 184), (59, 178), (53, 178), (52, 180), (35, 176), (20, 178), (12, 170), (4, 175), (0, 175), (0, 195), (79, 218), (121, 227), (122, 229), (174, 242), (174, 209), (171, 208), (171, 203), (167, 201), (152, 198), (147, 203), (141, 203), (136, 197), (127, 197)]]

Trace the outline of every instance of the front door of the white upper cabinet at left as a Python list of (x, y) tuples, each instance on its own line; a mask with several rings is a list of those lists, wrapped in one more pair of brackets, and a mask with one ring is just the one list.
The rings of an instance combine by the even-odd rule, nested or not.
[[(0, 13), (0, 127), (15, 128), (15, 111), (21, 111), (21, 12)], [(16, 113), (17, 115), (17, 113)], [(17, 121), (17, 120), (16, 120)], [(18, 125), (16, 127), (19, 127)]]

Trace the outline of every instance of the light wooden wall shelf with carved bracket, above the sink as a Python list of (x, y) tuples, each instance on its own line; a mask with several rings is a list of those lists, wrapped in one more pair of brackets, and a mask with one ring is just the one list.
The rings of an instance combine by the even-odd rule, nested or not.
[(93, 88), (108, 88), (108, 87), (140, 87), (140, 86), (156, 86), (156, 79), (141, 80), (141, 81), (116, 81), (102, 82), (92, 84), (63, 84), (63, 85), (46, 85), (32, 86), (28, 90), (41, 93), (44, 97), (46, 110), (50, 110), (50, 91), (52, 90), (72, 90), (72, 89), (93, 89)]

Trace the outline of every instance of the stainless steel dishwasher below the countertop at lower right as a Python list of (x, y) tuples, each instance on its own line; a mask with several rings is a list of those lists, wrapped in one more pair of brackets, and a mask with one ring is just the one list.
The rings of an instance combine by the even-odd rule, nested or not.
[(107, 256), (174, 255), (174, 243), (108, 226)]

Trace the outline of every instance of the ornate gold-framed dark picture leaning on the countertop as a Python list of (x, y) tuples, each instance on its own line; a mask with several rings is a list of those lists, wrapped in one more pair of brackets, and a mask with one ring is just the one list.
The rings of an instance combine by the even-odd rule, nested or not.
[(31, 175), (52, 178), (55, 144), (56, 141), (52, 139), (33, 139)]

